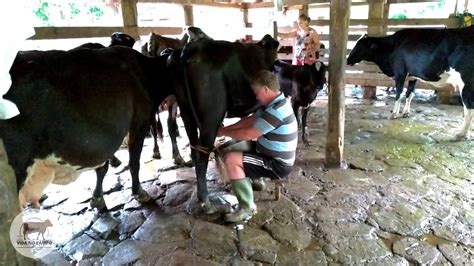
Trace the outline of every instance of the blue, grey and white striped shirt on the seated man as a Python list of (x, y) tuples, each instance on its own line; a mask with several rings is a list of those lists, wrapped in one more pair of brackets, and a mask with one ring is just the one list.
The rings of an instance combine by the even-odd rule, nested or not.
[(257, 139), (257, 152), (293, 165), (298, 144), (298, 124), (290, 98), (285, 98), (281, 93), (255, 115), (257, 118), (253, 126), (263, 133)]

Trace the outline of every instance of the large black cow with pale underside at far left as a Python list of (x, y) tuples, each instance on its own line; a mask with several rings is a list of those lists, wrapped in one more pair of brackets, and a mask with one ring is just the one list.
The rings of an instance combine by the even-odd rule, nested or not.
[(20, 114), (0, 121), (0, 137), (21, 206), (38, 207), (51, 182), (71, 182), (88, 169), (105, 175), (104, 162), (127, 133), (132, 194), (148, 201), (139, 182), (140, 153), (153, 111), (172, 94), (166, 64), (166, 56), (121, 46), (19, 52), (4, 97)]

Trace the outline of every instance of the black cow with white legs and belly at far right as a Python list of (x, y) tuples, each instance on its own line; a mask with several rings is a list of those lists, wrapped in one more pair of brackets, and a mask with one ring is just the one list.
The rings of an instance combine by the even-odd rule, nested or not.
[[(385, 37), (362, 36), (347, 58), (348, 65), (362, 60), (374, 62), (382, 72), (395, 79), (396, 102), (391, 118), (400, 110), (400, 94), (407, 76), (428, 82), (455, 83), (461, 91), (464, 123), (455, 140), (467, 137), (474, 109), (474, 26), (459, 29), (403, 29)], [(447, 73), (460, 80), (445, 81)], [(416, 79), (408, 81), (403, 116), (409, 115)]]

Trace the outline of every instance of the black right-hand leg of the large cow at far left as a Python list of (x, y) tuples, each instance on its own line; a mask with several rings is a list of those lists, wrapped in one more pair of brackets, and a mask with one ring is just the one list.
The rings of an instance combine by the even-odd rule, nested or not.
[(140, 155), (148, 127), (148, 123), (144, 123), (134, 132), (130, 132), (130, 142), (128, 143), (128, 152), (130, 155), (129, 166), (132, 176), (132, 195), (140, 203), (148, 202), (151, 199), (148, 193), (141, 187), (139, 177)]

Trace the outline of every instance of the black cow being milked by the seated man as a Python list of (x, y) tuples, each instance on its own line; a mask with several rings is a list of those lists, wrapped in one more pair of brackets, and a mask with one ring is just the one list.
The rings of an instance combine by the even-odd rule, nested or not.
[(207, 212), (215, 211), (206, 172), (217, 129), (226, 114), (244, 117), (259, 107), (250, 81), (260, 70), (272, 69), (278, 44), (270, 35), (256, 44), (201, 38), (170, 56), (176, 99), (191, 144), (198, 199)]

